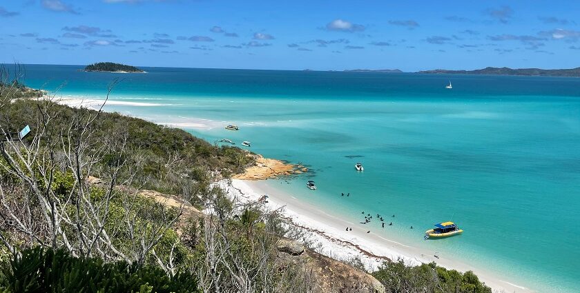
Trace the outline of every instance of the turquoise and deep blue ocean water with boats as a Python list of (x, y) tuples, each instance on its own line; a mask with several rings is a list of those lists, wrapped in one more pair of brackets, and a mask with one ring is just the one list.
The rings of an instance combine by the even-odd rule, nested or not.
[[(79, 68), (26, 65), (26, 83), (101, 99), (120, 78), (108, 110), (211, 142), (251, 141), (254, 152), (311, 168), (271, 181), (299, 199), (356, 222), (361, 211), (396, 214), (389, 229), (370, 229), (538, 292), (578, 292), (580, 79)], [(449, 220), (464, 234), (423, 241)]]

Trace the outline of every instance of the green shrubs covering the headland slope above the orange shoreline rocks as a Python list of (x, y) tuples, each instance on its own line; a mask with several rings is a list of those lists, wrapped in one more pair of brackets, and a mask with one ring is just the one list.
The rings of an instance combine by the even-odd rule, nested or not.
[[(37, 104), (39, 101), (16, 100), (3, 106), (0, 112), (0, 124), (12, 132), (17, 132), (21, 125), (29, 124), (33, 137), (41, 121)], [(58, 116), (52, 120), (52, 136), (58, 139), (66, 131), (73, 117), (91, 114), (95, 110), (70, 108), (65, 105), (52, 105)], [(119, 113), (103, 112), (91, 126), (95, 129), (95, 145), (119, 141), (126, 137), (127, 148), (135, 156), (144, 160), (142, 184), (144, 188), (177, 194), (175, 181), (193, 179), (200, 183), (197, 188), (206, 192), (211, 178), (210, 174), (228, 176), (242, 172), (245, 166), (253, 163), (251, 156), (240, 148), (232, 146), (215, 146), (203, 139), (194, 137), (189, 132), (178, 128), (168, 128), (152, 122)], [(117, 154), (106, 154), (103, 165), (118, 163), (123, 158)], [(168, 161), (175, 161), (171, 166)], [(133, 162), (130, 162), (133, 163)], [(97, 172), (98, 170), (95, 170)], [(93, 174), (98, 176), (98, 174)]]

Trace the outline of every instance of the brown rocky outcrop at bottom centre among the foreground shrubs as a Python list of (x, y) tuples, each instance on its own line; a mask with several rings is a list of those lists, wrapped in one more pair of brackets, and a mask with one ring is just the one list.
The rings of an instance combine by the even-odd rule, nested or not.
[(373, 276), (351, 265), (305, 249), (290, 239), (278, 241), (278, 263), (281, 267), (300, 265), (310, 272), (314, 293), (383, 293), (385, 288)]

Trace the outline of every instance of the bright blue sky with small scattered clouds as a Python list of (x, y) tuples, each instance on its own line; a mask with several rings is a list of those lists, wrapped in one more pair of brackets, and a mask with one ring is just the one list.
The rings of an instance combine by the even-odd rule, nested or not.
[(580, 67), (580, 1), (0, 0), (0, 62)]

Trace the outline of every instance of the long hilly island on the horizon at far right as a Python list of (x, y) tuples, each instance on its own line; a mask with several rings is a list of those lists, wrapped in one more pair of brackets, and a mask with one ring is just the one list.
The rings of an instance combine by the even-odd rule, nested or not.
[(580, 77), (580, 67), (572, 69), (539, 69), (539, 68), (512, 69), (507, 67), (502, 68), (487, 67), (478, 70), (436, 69), (436, 70), (419, 71), (418, 73), (524, 75), (528, 77)]

